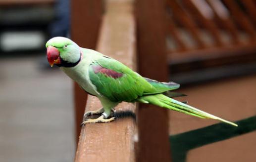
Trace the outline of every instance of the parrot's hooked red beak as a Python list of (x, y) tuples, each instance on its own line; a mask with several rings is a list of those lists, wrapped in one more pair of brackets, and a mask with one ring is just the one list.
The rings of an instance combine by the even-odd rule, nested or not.
[(49, 45), (47, 47), (47, 59), (51, 67), (54, 64), (60, 64), (59, 51), (56, 47)]

